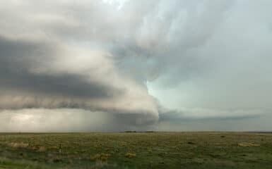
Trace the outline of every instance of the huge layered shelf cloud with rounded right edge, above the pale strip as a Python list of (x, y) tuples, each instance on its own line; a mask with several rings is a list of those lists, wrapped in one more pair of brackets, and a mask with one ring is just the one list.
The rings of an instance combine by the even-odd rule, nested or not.
[[(131, 125), (146, 113), (143, 123), (157, 119), (146, 89), (119, 77), (104, 52), (70, 50), (48, 39), (3, 36), (0, 49), (1, 109), (83, 108), (134, 117)], [(123, 123), (129, 119), (121, 117)]]

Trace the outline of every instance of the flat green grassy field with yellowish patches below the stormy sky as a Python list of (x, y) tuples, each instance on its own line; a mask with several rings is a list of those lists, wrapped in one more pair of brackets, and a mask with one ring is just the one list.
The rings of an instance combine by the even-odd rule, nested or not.
[(0, 168), (264, 169), (272, 168), (272, 134), (3, 133)]

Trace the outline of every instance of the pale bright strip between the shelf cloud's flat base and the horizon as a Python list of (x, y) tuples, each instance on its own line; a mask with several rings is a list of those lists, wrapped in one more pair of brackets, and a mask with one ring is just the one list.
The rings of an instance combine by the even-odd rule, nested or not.
[(138, 113), (23, 108), (1, 111), (0, 132), (119, 132), (137, 130), (139, 126), (146, 130), (150, 128), (148, 118), (150, 115)]

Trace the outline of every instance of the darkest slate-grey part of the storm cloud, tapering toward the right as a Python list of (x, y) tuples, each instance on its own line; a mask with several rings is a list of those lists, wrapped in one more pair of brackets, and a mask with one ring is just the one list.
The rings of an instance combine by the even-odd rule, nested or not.
[[(51, 93), (87, 98), (122, 95), (122, 89), (115, 89), (110, 85), (98, 82), (86, 82), (83, 75), (37, 75), (30, 73), (28, 68), (32, 64), (43, 66), (46, 62), (48, 63), (57, 57), (57, 49), (53, 44), (0, 37), (0, 51), (0, 88), (2, 93), (16, 89), (35, 94)], [(33, 106), (35, 107), (35, 105)], [(37, 107), (39, 106), (37, 105)]]

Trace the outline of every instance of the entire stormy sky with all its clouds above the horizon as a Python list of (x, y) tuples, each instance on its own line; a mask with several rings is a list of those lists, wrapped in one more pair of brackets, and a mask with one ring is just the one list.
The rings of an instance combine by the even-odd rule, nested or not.
[(0, 0), (0, 132), (271, 131), (270, 0)]

